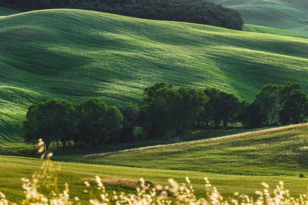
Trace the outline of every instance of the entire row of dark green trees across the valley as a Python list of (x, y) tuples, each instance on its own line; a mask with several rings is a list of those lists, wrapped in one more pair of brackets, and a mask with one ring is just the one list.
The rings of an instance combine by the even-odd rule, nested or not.
[[(29, 106), (24, 127), (25, 142), (43, 139), (46, 150), (94, 148), (104, 144), (141, 139), (167, 140), (188, 129), (227, 129), (230, 124), (261, 127), (296, 124), (308, 118), (308, 97), (298, 83), (264, 85), (253, 102), (208, 87), (176, 88), (159, 82), (144, 89), (142, 104), (107, 106), (97, 98), (73, 104), (52, 99)], [(139, 127), (141, 133), (134, 135)]]

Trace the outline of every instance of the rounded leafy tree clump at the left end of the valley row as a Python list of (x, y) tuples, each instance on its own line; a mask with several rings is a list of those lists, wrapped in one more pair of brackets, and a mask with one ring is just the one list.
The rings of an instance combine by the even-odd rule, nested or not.
[(102, 145), (108, 141), (118, 142), (123, 115), (115, 106), (107, 106), (97, 98), (90, 98), (74, 105), (67, 100), (53, 99), (32, 104), (28, 108), (24, 126), (25, 142), (35, 144), (43, 139), (48, 151), (59, 150), (59, 142), (65, 149), (74, 142), (86, 148)]

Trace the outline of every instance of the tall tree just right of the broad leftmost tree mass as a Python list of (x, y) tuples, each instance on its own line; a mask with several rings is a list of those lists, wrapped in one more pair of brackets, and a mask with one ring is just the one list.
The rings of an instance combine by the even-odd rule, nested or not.
[(80, 112), (79, 132), (86, 147), (94, 148), (95, 141), (103, 135), (107, 136), (104, 117), (108, 110), (106, 103), (98, 98), (81, 101), (78, 106)]

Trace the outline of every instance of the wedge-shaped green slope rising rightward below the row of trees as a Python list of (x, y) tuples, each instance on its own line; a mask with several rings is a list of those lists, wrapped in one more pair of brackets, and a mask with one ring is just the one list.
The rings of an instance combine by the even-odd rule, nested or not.
[(87, 163), (238, 175), (308, 174), (308, 124), (101, 155)]

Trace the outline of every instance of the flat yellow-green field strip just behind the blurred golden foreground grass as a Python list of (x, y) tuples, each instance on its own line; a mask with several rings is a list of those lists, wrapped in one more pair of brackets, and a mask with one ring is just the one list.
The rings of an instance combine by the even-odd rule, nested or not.
[[(31, 175), (40, 169), (41, 164), (42, 160), (38, 159), (0, 156), (0, 191), (13, 202), (21, 202), (24, 198), (24, 194), (21, 189), (21, 178), (31, 178)], [(253, 196), (255, 190), (263, 189), (261, 182), (268, 183), (272, 188), (271, 190), (273, 190), (279, 181), (284, 181), (285, 187), (291, 190), (291, 195), (298, 197), (299, 194), (306, 192), (308, 183), (307, 178), (298, 177), (221, 175), (204, 172), (150, 170), (133, 167), (78, 163), (61, 163), (58, 183), (61, 184), (61, 189), (64, 188), (63, 184), (65, 182), (69, 183), (70, 196), (79, 196), (81, 200), (84, 200), (86, 198), (86, 194), (83, 193), (83, 190), (85, 190), (83, 179), (93, 178), (95, 175), (98, 175), (103, 179), (128, 178), (138, 180), (143, 177), (145, 180), (162, 185), (167, 185), (167, 180), (169, 178), (174, 178), (181, 183), (185, 182), (185, 177), (188, 176), (192, 185), (194, 185), (195, 192), (198, 196), (204, 196), (205, 193), (204, 177), (208, 177), (211, 184), (215, 185), (220, 193), (227, 197), (232, 196), (234, 192), (246, 193)], [(107, 187), (107, 190), (111, 189), (125, 192), (132, 192), (133, 190), (127, 190), (119, 187)]]

